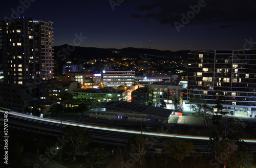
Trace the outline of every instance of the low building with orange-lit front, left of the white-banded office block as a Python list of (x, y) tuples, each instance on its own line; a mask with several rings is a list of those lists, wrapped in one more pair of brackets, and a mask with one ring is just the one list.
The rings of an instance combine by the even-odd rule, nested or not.
[(78, 81), (82, 88), (102, 87), (100, 73), (66, 73), (67, 80)]

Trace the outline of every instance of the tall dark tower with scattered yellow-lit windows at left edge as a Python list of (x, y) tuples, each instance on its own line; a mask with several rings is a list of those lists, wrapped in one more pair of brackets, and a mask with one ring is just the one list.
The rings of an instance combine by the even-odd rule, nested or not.
[(53, 78), (53, 22), (20, 17), (0, 23), (4, 82)]

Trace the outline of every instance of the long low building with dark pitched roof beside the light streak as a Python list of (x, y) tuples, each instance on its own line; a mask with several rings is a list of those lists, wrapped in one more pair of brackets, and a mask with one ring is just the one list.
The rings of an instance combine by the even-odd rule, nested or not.
[[(173, 110), (126, 101), (103, 102), (92, 105), (89, 117), (94, 120), (120, 121), (123, 125), (162, 125)], [(113, 124), (113, 123), (112, 123)]]

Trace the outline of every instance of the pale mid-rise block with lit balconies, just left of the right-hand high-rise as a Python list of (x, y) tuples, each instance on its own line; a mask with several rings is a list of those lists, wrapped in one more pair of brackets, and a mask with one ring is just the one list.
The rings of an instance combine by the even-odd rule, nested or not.
[(175, 109), (175, 99), (177, 99), (178, 108), (180, 107), (181, 86), (176, 86), (172, 82), (156, 82), (149, 86), (148, 102), (154, 106), (159, 106), (161, 100), (166, 103), (166, 108)]

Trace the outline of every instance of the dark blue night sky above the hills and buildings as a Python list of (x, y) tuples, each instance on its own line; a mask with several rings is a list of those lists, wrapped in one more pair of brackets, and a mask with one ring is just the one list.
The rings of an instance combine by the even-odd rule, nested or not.
[[(142, 40), (142, 48), (149, 48), (151, 40), (151, 48), (173, 51), (187, 50), (189, 43), (199, 50), (256, 48), (253, 0), (30, 0), (27, 9), (21, 7), (28, 1), (1, 2), (1, 19), (19, 10), (19, 16), (53, 21), (54, 45), (72, 44), (81, 34), (87, 39), (79, 46), (85, 47), (139, 48)], [(116, 2), (114, 11), (110, 2)], [(188, 20), (182, 22), (182, 14)], [(183, 23), (179, 32), (175, 22)], [(250, 38), (255, 44), (244, 47)]]

